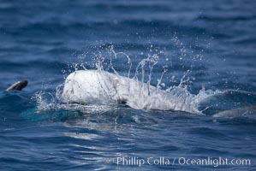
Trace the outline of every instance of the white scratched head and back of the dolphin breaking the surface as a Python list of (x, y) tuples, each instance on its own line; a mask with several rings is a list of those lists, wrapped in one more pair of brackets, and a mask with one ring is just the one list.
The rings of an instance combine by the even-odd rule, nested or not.
[(68, 75), (62, 99), (64, 103), (126, 103), (134, 109), (159, 109), (199, 113), (193, 109), (192, 97), (184, 93), (159, 90), (139, 80), (98, 70), (80, 70)]

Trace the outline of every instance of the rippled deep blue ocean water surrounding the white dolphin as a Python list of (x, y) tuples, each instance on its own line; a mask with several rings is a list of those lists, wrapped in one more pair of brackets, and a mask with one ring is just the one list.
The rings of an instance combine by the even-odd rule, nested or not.
[[(255, 110), (214, 117), (256, 104), (255, 8), (0, 0), (1, 170), (255, 170)], [(80, 69), (182, 90), (204, 115), (62, 103), (65, 78)], [(4, 91), (17, 80), (27, 87)]]

